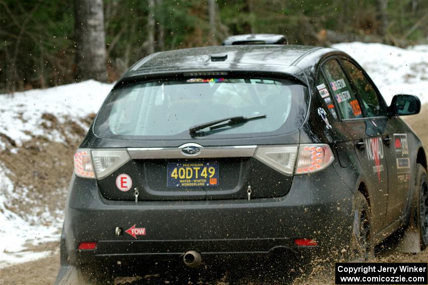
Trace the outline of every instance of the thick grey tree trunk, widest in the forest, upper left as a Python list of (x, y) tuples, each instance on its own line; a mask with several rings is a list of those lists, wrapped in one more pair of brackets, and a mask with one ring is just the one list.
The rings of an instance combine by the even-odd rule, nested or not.
[(75, 0), (77, 79), (107, 80), (103, 0)]

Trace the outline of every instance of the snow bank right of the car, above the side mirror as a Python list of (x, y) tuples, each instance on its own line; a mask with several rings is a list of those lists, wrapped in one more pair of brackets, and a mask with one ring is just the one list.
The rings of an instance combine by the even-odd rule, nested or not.
[(378, 86), (386, 103), (395, 94), (411, 94), (428, 102), (428, 45), (408, 49), (378, 43), (340, 43), (340, 49), (363, 66)]

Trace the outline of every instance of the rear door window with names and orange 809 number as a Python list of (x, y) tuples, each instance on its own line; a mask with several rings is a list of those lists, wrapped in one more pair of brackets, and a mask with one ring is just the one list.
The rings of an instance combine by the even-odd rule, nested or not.
[(328, 61), (322, 68), (342, 118), (363, 118), (360, 103), (337, 60)]

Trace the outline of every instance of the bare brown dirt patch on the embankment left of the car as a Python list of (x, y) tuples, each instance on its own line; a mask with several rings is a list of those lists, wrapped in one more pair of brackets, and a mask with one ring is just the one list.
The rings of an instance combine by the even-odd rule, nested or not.
[(52, 141), (43, 135), (32, 135), (31, 140), (17, 147), (14, 140), (0, 134), (6, 145), (1, 162), (10, 170), (7, 176), (14, 183), (15, 192), (7, 197), (8, 204), (5, 206), (8, 210), (21, 217), (30, 214), (40, 217), (47, 211), (49, 218), (36, 221), (42, 225), (49, 225), (55, 216), (62, 218), (58, 209), (63, 209), (65, 205), (67, 185), (73, 171), (73, 155), (94, 116), (82, 119), (81, 124), (67, 118), (60, 123), (55, 116), (44, 113), (40, 128), (45, 133), (52, 130), (59, 132), (63, 142)]

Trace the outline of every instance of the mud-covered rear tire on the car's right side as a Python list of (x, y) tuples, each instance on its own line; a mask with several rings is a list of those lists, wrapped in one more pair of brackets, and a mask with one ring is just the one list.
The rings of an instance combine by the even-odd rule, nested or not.
[(372, 214), (369, 203), (361, 192), (355, 194), (355, 216), (353, 223), (353, 256), (356, 261), (367, 261), (375, 257), (372, 233)]

